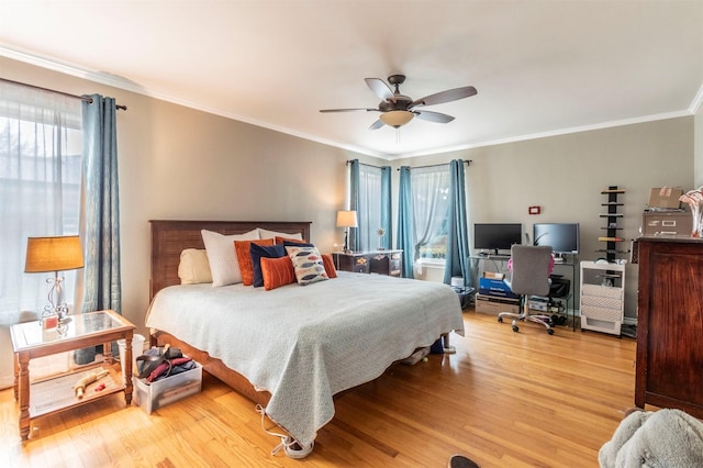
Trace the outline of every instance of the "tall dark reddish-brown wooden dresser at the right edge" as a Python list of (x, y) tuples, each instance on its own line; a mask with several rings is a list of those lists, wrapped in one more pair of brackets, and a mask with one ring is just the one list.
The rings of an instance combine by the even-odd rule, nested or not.
[(635, 404), (703, 419), (703, 239), (640, 237)]

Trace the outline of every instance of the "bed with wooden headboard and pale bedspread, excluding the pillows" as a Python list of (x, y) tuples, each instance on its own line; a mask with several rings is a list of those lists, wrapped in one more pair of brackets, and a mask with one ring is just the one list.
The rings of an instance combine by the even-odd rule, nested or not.
[(376, 379), (439, 336), (464, 334), (458, 297), (434, 282), (338, 271), (327, 281), (269, 291), (180, 285), (180, 254), (204, 248), (203, 229), (230, 235), (258, 227), (310, 239), (309, 222), (150, 224), (152, 343), (179, 347), (260, 404), (303, 447), (334, 416), (335, 394)]

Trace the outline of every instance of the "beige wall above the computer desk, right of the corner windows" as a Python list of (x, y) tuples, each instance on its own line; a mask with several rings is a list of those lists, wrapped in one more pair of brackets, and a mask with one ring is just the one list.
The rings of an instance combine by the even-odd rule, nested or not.
[[(649, 189), (693, 187), (693, 116), (573, 133), (504, 145), (453, 152), (432, 157), (398, 160), (419, 166), (470, 159), (467, 169), (467, 203), (473, 222), (522, 223), (532, 236), (533, 223), (580, 223), (580, 260), (603, 254), (598, 237), (603, 235), (606, 199), (601, 190), (618, 186), (624, 219), (623, 236), (639, 234), (641, 212)], [(397, 186), (395, 186), (397, 187)], [(538, 205), (542, 214), (529, 215)], [(470, 227), (470, 231), (472, 229)], [(569, 275), (569, 271), (558, 271)], [(637, 267), (626, 269), (626, 316), (636, 317)]]

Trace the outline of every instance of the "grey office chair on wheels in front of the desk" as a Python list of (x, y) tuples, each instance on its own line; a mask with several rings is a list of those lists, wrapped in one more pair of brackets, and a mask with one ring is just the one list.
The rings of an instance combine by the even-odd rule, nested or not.
[(498, 321), (503, 322), (503, 317), (513, 319), (513, 332), (517, 332), (517, 321), (539, 323), (547, 327), (547, 333), (554, 335), (554, 330), (549, 325), (549, 315), (529, 313), (529, 296), (549, 294), (549, 264), (551, 263), (551, 247), (513, 245), (511, 248), (513, 274), (507, 285), (510, 289), (523, 296), (522, 313), (501, 312)]

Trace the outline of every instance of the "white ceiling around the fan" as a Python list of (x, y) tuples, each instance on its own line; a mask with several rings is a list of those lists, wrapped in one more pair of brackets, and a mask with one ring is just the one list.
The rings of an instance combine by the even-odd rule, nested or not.
[[(0, 0), (0, 55), (392, 159), (694, 113), (703, 0)], [(478, 94), (400, 138), (317, 112), (375, 108), (364, 78), (397, 73)]]

